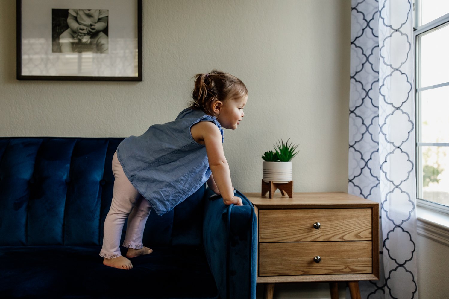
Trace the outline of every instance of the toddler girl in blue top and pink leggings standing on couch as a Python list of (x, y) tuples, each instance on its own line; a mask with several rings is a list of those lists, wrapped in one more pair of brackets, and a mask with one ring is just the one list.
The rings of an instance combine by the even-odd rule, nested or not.
[(237, 129), (245, 115), (247, 88), (240, 79), (218, 70), (194, 78), (194, 101), (189, 108), (174, 121), (150, 126), (117, 147), (112, 159), (114, 193), (100, 252), (106, 266), (132, 269), (119, 248), (126, 217), (123, 246), (132, 258), (152, 252), (142, 244), (151, 209), (163, 215), (205, 182), (225, 204), (242, 205), (233, 193), (221, 128)]

